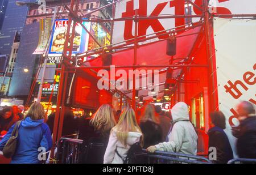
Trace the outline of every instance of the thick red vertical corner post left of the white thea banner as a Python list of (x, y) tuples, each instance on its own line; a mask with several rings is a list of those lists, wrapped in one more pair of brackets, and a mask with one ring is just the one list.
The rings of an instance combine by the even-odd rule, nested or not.
[(212, 60), (212, 41), (210, 36), (210, 23), (209, 23), (209, 12), (208, 12), (208, 0), (203, 0), (204, 6), (204, 30), (205, 30), (205, 41), (207, 47), (207, 62), (209, 65), (208, 78), (209, 78), (209, 112), (213, 112), (216, 109), (216, 97), (214, 92), (214, 76), (213, 76), (213, 60)]

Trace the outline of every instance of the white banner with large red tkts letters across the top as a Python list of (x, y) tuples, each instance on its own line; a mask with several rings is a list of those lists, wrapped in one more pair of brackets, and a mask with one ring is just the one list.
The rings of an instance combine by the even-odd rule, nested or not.
[[(115, 19), (127, 18), (135, 15), (138, 9), (139, 16), (154, 15), (201, 15), (201, 11), (192, 5), (186, 5), (185, 0), (123, 0), (116, 4)], [(201, 6), (202, 0), (192, 0)], [(218, 14), (256, 14), (255, 0), (210, 0), (210, 11)], [(194, 18), (198, 22), (199, 18)], [(191, 19), (152, 19), (138, 22), (138, 36), (174, 28), (191, 22)], [(132, 20), (115, 22), (113, 43), (133, 39), (135, 24)], [(161, 39), (161, 38), (159, 38)]]

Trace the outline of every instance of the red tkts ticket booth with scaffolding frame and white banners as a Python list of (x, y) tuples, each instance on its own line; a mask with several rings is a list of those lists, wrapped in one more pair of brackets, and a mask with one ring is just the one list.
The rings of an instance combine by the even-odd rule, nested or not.
[[(66, 7), (69, 24), (110, 22), (113, 44), (75, 57), (72, 42), (65, 44), (54, 141), (61, 136), (65, 106), (98, 108), (113, 104), (114, 96), (115, 104), (123, 106), (126, 100), (134, 109), (145, 101), (163, 101), (170, 107), (184, 101), (199, 135), (209, 129), (209, 113), (221, 110), (234, 146), (234, 107), (241, 100), (256, 104), (254, 0), (119, 0), (105, 6), (113, 7), (113, 19), (88, 20), (84, 18), (91, 12), (78, 16), (76, 3)], [(74, 27), (69, 25), (69, 31)], [(99, 56), (79, 62), (95, 54)], [(200, 139), (199, 152), (207, 153), (207, 138)]]

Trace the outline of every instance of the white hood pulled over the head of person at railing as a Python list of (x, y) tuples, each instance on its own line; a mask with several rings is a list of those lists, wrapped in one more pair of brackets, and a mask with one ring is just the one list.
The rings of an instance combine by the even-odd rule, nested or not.
[(171, 109), (172, 119), (174, 122), (189, 119), (188, 105), (184, 102), (179, 102)]

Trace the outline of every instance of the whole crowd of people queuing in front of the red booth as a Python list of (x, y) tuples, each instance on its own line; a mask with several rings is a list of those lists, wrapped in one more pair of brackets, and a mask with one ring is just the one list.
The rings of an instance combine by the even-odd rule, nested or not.
[[(10, 139), (15, 123), (19, 126), (18, 145), (11, 163), (40, 163), (38, 148), (46, 151), (52, 147), (52, 131), (55, 113), (46, 118), (43, 106), (34, 103), (27, 114), (22, 115), (24, 106), (6, 107), (0, 113), (0, 131), (5, 135), (0, 142), (0, 151)], [(254, 105), (242, 101), (237, 106), (240, 125), (232, 128), (237, 138), (236, 149), (241, 158), (256, 159), (256, 116)], [(209, 147), (217, 150), (214, 163), (227, 163), (233, 159), (229, 138), (224, 131), (226, 118), (222, 112), (210, 114), (211, 128), (208, 131)], [(188, 105), (179, 102), (171, 113), (165, 113), (160, 106), (147, 104), (141, 111), (132, 108), (122, 111), (104, 104), (89, 116), (74, 116), (71, 110), (64, 114), (63, 136), (79, 134), (85, 148), (80, 163), (126, 163), (126, 157), (134, 145), (146, 148), (148, 153), (168, 151), (197, 155), (197, 133), (189, 118)], [(93, 151), (93, 144), (101, 147)]]

